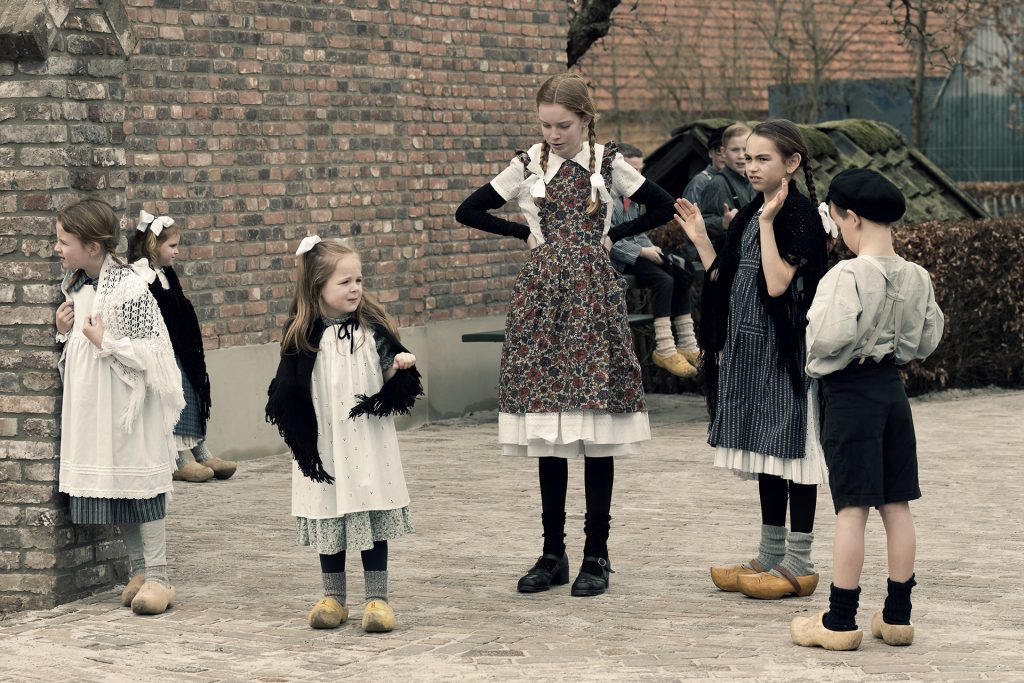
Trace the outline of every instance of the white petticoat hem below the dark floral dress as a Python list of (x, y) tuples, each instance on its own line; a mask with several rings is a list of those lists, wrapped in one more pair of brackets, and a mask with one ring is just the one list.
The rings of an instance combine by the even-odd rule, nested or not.
[(498, 414), (498, 442), (507, 456), (606, 458), (640, 451), (650, 440), (647, 413)]

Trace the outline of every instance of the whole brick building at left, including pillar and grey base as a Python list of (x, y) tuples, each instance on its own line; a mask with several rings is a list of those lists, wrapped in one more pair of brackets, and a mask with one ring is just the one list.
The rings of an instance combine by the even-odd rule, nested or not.
[[(536, 135), (560, 0), (0, 0), (0, 611), (98, 590), (120, 541), (56, 492), (57, 209), (100, 197), (183, 228), (214, 386), (210, 443), (263, 423), (298, 241), (350, 237), (427, 378), (416, 419), (493, 403), (514, 241), (455, 206)], [(487, 347), (487, 348), (483, 348)]]

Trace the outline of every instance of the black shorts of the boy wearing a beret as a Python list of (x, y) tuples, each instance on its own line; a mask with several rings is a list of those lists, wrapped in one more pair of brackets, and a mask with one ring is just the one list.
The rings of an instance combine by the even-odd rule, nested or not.
[(821, 441), (836, 512), (921, 498), (913, 417), (892, 359), (854, 361), (821, 384)]

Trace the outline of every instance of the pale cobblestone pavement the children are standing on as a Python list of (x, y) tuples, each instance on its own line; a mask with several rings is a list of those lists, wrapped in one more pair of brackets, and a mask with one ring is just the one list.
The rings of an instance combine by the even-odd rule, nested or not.
[[(855, 652), (790, 643), (795, 614), (822, 609), (834, 515), (819, 492), (810, 598), (762, 602), (717, 591), (712, 563), (748, 559), (756, 484), (710, 464), (694, 396), (651, 396), (654, 440), (616, 464), (609, 593), (518, 595), (540, 550), (536, 465), (503, 458), (494, 414), (403, 432), (417, 533), (391, 544), (398, 628), (367, 635), (305, 625), (319, 597), (315, 556), (295, 545), (289, 461), (245, 462), (229, 481), (179, 484), (169, 555), (179, 604), (133, 616), (114, 593), (0, 622), (3, 681), (1024, 680), (1024, 392), (914, 401), (922, 487), (914, 504), (918, 640)], [(582, 463), (571, 463), (567, 531), (583, 539)], [(885, 592), (882, 524), (869, 524), (860, 623)], [(349, 595), (361, 596), (358, 559)], [(354, 603), (354, 604), (353, 604)]]

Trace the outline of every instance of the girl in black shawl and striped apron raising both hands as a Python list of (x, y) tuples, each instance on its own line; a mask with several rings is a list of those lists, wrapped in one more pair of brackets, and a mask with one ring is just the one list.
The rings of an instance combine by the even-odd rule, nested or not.
[[(790, 121), (754, 128), (745, 173), (759, 195), (733, 218), (722, 253), (699, 209), (686, 200), (676, 204), (676, 221), (706, 268), (699, 342), (712, 418), (708, 442), (715, 465), (757, 479), (761, 498), (757, 558), (712, 567), (712, 580), (762, 599), (810, 595), (818, 582), (811, 544), (817, 484), (827, 472), (817, 392), (804, 373), (804, 330), (826, 262), (809, 161)], [(800, 169), (810, 201), (793, 180)]]

